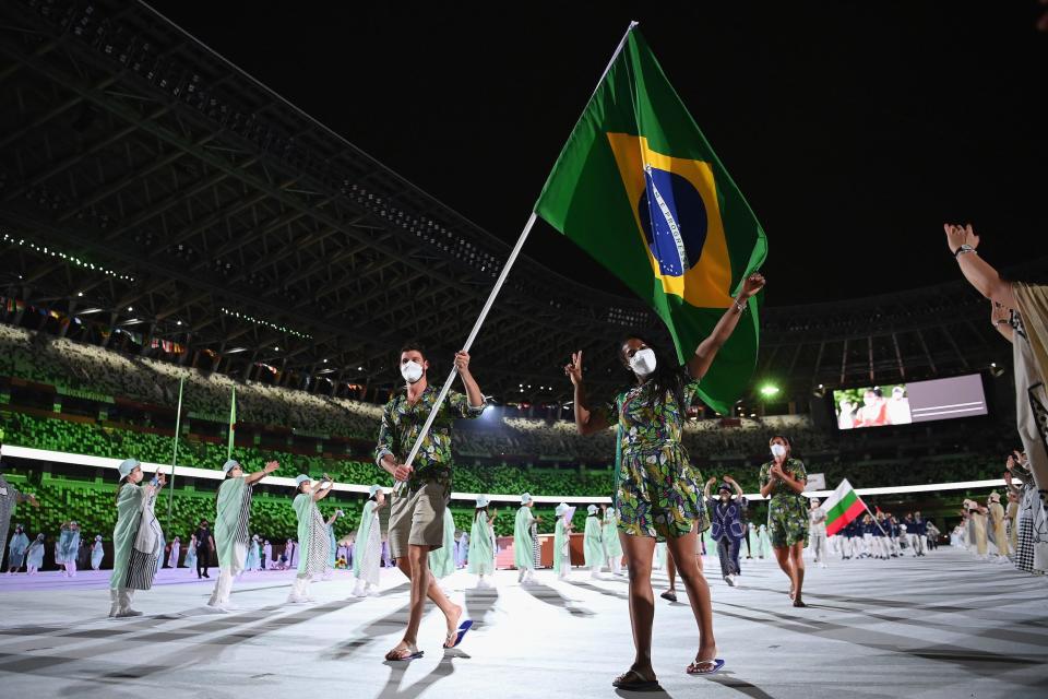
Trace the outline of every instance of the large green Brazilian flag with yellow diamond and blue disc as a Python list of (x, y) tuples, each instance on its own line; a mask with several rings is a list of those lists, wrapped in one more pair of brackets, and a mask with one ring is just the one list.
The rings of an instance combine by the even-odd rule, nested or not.
[[(764, 262), (761, 224), (636, 29), (590, 99), (535, 213), (651, 304), (684, 364)], [(757, 365), (758, 304), (702, 381), (727, 415)]]

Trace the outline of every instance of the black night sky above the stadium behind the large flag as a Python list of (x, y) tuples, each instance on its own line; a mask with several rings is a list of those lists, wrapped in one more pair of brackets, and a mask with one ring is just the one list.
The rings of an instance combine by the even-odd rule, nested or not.
[[(943, 221), (975, 224), (999, 266), (1045, 256), (1034, 0), (152, 4), (507, 241), (636, 19), (767, 232), (770, 305), (955, 280)], [(525, 252), (621, 289), (545, 224)]]

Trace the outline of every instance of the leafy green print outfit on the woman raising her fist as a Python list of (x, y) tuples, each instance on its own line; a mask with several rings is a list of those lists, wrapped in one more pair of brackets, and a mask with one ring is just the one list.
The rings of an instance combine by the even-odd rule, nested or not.
[(619, 530), (664, 542), (710, 526), (702, 497), (702, 474), (681, 442), (688, 408), (698, 402), (699, 381), (686, 378), (684, 404), (671, 391), (653, 400), (651, 381), (621, 393), (606, 406), (608, 424), (618, 424), (615, 507)]

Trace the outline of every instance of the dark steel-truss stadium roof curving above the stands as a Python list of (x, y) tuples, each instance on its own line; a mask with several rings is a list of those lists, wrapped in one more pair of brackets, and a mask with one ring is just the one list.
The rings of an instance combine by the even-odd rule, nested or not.
[[(12, 0), (0, 19), (9, 297), (287, 383), (392, 384), (407, 337), (450, 363), (502, 241), (144, 4)], [(799, 393), (985, 368), (1009, 352), (980, 304), (957, 283), (769, 309), (758, 377)], [(582, 348), (608, 389), (615, 340), (653, 327), (665, 337), (638, 301), (524, 259), (474, 347), (478, 375), (500, 400), (564, 400), (560, 367)]]

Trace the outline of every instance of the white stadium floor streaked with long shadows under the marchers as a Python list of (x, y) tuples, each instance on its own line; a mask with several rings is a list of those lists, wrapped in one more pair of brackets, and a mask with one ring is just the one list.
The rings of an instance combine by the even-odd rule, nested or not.
[[(809, 564), (807, 609), (795, 609), (772, 561), (743, 561), (742, 584), (706, 565), (725, 668), (689, 677), (695, 626), (687, 597), (656, 600), (655, 667), (666, 697), (1045, 696), (1048, 584), (1010, 566), (940, 548), (926, 558)], [(212, 569), (212, 580), (216, 574)], [(426, 656), (386, 663), (407, 618), (407, 585), (383, 570), (376, 597), (349, 596), (352, 578), (318, 582), (318, 602), (284, 603), (290, 574), (249, 573), (233, 600), (241, 611), (204, 612), (210, 581), (164, 570), (139, 593), (135, 619), (108, 619), (106, 571), (74, 580), (0, 576), (0, 696), (36, 697), (611, 697), (632, 657), (626, 582), (591, 580), (522, 588), (514, 571), (497, 589), (446, 583), (476, 626), (444, 652), (443, 620), (422, 621)], [(665, 574), (656, 573), (656, 594)]]

